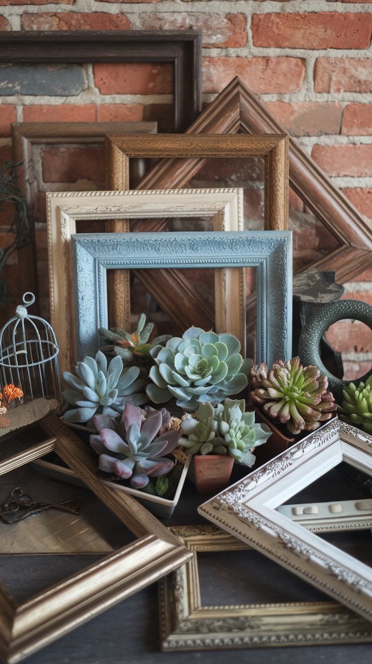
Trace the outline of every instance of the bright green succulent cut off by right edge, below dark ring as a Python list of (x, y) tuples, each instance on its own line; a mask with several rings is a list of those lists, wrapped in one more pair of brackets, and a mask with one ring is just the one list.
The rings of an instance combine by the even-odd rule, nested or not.
[(349, 382), (342, 393), (342, 407), (338, 408), (340, 418), (372, 434), (372, 376), (365, 383), (360, 381), (358, 386)]

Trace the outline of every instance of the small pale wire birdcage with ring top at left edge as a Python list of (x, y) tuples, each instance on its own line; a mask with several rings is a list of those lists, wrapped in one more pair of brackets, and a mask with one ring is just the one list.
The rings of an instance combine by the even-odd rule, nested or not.
[(44, 397), (62, 406), (56, 335), (44, 319), (28, 313), (34, 294), (25, 293), (22, 299), (15, 317), (0, 331), (1, 388), (13, 383), (23, 390), (25, 402)]

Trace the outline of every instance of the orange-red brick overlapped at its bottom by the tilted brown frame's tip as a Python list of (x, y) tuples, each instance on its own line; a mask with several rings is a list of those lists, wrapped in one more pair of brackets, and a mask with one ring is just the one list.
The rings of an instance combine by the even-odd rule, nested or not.
[(300, 58), (203, 58), (203, 92), (221, 92), (240, 76), (253, 92), (299, 92), (305, 66)]

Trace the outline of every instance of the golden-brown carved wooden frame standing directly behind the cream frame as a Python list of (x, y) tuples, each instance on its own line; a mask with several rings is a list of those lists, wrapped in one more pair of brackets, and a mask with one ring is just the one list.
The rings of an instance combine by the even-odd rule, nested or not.
[[(115, 191), (129, 188), (129, 160), (135, 157), (155, 157), (167, 167), (168, 161), (177, 164), (181, 169), (182, 177), (179, 181), (185, 185), (192, 173), (200, 168), (206, 159), (219, 157), (262, 157), (265, 160), (265, 229), (286, 230), (288, 228), (288, 136), (285, 133), (278, 135), (166, 135), (158, 134), (142, 140), (142, 137), (125, 137), (108, 135), (106, 138), (107, 161), (107, 189)], [(155, 140), (152, 140), (155, 139)], [(166, 157), (166, 159), (164, 159)], [(197, 166), (196, 166), (197, 165)], [(152, 171), (151, 171), (152, 172)], [(178, 173), (178, 171), (177, 171)], [(179, 173), (178, 173), (179, 176)], [(147, 184), (144, 184), (145, 181)], [(174, 189), (176, 185), (164, 177), (164, 187), (159, 189)], [(145, 177), (137, 189), (158, 189), (150, 184)], [(166, 228), (164, 220), (152, 222), (151, 227), (143, 228), (141, 221), (133, 224), (133, 231), (158, 231)], [(121, 232), (120, 222), (113, 222), (107, 226), (111, 232)], [(182, 279), (177, 272), (170, 274), (158, 272), (155, 279), (149, 280), (146, 272), (138, 272), (139, 280), (145, 284), (147, 290), (163, 311), (179, 325), (177, 319), (178, 307), (174, 307), (174, 300), (182, 301), (182, 321), (184, 328), (192, 325), (195, 302), (190, 298), (190, 283)], [(119, 274), (113, 273), (109, 280), (109, 289), (115, 294), (110, 301), (120, 303), (123, 301), (123, 286)], [(204, 308), (204, 316), (200, 319), (200, 326), (210, 329), (214, 324), (210, 311), (205, 307), (202, 298), (200, 307)], [(111, 306), (111, 315), (116, 327), (121, 327), (123, 311), (119, 306)]]

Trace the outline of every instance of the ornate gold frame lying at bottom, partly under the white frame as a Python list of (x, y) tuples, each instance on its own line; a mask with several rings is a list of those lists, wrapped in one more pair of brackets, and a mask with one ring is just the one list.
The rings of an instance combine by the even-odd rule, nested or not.
[(159, 584), (162, 651), (368, 643), (372, 625), (338, 602), (202, 606), (197, 553), (252, 548), (215, 526), (170, 527), (194, 553)]

